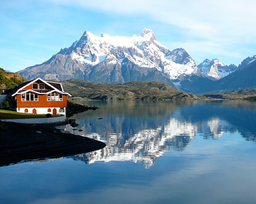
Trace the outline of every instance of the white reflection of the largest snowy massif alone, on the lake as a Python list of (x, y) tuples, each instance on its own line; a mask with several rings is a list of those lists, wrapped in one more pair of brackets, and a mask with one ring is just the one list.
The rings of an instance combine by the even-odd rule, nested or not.
[(134, 163), (142, 163), (145, 168), (150, 168), (157, 157), (167, 152), (170, 146), (183, 149), (196, 136), (196, 133), (196, 125), (191, 122), (180, 122), (175, 118), (170, 118), (167, 124), (157, 128), (138, 131), (123, 142), (122, 132), (111, 133), (107, 140), (101, 139), (98, 133), (93, 133), (85, 136), (105, 142), (107, 146), (98, 151), (86, 153), (85, 160), (87, 163), (131, 160)]

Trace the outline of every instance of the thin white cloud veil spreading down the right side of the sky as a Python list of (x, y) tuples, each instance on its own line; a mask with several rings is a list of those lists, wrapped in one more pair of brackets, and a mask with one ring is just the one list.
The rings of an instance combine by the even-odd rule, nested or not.
[[(165, 25), (167, 30), (176, 28), (183, 36), (162, 42), (168, 48), (183, 47), (200, 63), (210, 55), (222, 56), (227, 63), (239, 63), (254, 55), (256, 46), (256, 1), (252, 0), (46, 0), (55, 4), (84, 7), (109, 15), (147, 17), (152, 22)], [(122, 22), (121, 22), (122, 23)], [(136, 25), (136, 22), (134, 22)], [(169, 28), (168, 28), (169, 27)], [(170, 45), (170, 46), (168, 46)], [(242, 52), (241, 47), (247, 46)], [(207, 58), (210, 58), (207, 57)]]

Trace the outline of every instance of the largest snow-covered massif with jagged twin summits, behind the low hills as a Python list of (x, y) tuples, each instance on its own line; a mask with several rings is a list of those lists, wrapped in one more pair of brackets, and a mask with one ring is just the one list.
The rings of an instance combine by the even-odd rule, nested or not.
[[(166, 77), (173, 80), (194, 74), (198, 68), (186, 50), (168, 50), (157, 41), (151, 29), (145, 28), (139, 35), (131, 37), (95, 36), (85, 31), (79, 41), (61, 49), (50, 60), (19, 73), (28, 79), (37, 76), (45, 79), (47, 76), (47, 79), (97, 81), (97, 77), (101, 77), (101, 82), (114, 83), (141, 80), (134, 78), (131, 69), (142, 72), (141, 76), (149, 75), (150, 79)], [(155, 73), (147, 71), (149, 69), (157, 69), (162, 75), (153, 77)]]

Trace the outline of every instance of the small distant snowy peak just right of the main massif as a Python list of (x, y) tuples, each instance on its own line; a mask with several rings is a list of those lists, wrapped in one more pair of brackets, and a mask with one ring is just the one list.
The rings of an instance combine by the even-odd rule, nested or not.
[(204, 60), (197, 66), (200, 72), (209, 79), (221, 79), (237, 70), (236, 65), (224, 65), (218, 59)]

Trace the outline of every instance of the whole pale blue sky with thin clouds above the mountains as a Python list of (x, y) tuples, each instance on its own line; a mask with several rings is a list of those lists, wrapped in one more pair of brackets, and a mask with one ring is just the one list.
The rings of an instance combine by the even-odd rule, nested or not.
[(170, 50), (183, 47), (197, 65), (218, 58), (239, 65), (256, 55), (256, 1), (0, 1), (0, 67), (43, 63), (85, 31), (133, 36), (154, 31)]

